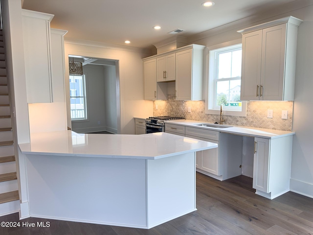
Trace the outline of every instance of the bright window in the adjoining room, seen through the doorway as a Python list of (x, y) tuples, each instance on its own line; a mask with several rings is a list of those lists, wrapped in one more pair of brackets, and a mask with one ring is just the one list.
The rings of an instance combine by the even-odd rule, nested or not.
[(85, 75), (70, 75), (70, 117), (72, 120), (87, 119)]

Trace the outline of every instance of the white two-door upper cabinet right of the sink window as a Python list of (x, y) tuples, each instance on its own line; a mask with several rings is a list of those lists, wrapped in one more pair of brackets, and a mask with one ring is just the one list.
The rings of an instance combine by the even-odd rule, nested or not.
[(301, 22), (286, 17), (238, 31), (243, 34), (241, 100), (293, 100)]

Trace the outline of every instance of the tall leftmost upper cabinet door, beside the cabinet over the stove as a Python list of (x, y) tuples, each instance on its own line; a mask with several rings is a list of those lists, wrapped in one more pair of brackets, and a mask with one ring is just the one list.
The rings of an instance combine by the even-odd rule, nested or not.
[(143, 63), (145, 99), (156, 99), (156, 59)]

